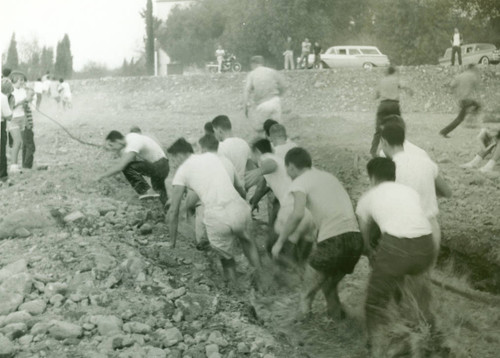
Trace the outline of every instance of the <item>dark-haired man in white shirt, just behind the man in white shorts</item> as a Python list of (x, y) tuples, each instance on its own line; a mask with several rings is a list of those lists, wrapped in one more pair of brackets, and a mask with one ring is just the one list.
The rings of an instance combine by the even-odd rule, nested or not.
[[(215, 137), (219, 140), (219, 154), (233, 163), (236, 175), (241, 184), (245, 185), (245, 172), (252, 166), (252, 151), (248, 143), (233, 134), (228, 116), (219, 115), (212, 120)], [(246, 186), (245, 186), (246, 187)]]

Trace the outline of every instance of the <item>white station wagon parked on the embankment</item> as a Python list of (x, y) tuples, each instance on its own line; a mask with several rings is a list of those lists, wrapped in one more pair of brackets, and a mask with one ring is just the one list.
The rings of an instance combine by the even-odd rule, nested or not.
[[(373, 67), (389, 66), (389, 58), (375, 46), (333, 46), (320, 55), (320, 68), (331, 67)], [(314, 55), (309, 56), (309, 64), (314, 63)]]

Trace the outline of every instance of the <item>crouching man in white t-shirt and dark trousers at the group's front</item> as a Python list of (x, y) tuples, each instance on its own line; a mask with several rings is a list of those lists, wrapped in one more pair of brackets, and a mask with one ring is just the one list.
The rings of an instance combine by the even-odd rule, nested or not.
[[(124, 136), (114, 130), (106, 136), (106, 147), (119, 153), (121, 158), (116, 164), (109, 166), (97, 180), (123, 172), (130, 185), (140, 195), (140, 199), (159, 196), (162, 204), (167, 204), (165, 179), (170, 168), (168, 159), (158, 143), (142, 134), (128, 133)], [(144, 176), (151, 178), (153, 190)]]

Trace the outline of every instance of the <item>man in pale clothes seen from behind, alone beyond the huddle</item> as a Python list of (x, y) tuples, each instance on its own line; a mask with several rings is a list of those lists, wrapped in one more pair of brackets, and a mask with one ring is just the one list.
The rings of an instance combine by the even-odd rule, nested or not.
[(251, 61), (252, 71), (248, 74), (243, 93), (245, 116), (248, 118), (253, 99), (253, 111), (250, 122), (258, 135), (263, 136), (262, 127), (267, 119), (281, 120), (281, 99), (286, 83), (281, 74), (264, 66), (262, 56), (254, 56)]

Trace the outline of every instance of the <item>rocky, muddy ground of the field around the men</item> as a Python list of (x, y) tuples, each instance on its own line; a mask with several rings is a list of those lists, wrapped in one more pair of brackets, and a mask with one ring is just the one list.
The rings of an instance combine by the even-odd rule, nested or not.
[[(290, 136), (311, 151), (316, 166), (338, 176), (354, 201), (368, 186), (364, 165), (377, 105), (372, 88), (381, 75), (288, 75), (284, 112)], [(403, 79), (416, 90), (414, 97), (402, 98), (404, 118), (409, 139), (439, 163), (454, 191), (440, 202), (445, 248), (434, 276), (469, 298), (434, 286), (446, 345), (452, 357), (496, 357), (498, 300), (474, 288), (498, 292), (500, 179), (458, 167), (473, 155), (478, 128), (461, 126), (448, 140), (437, 135), (455, 115), (446, 87), (452, 75), (437, 67), (404, 69)], [(498, 103), (499, 78), (495, 67), (483, 70), (486, 111)], [(41, 109), (99, 144), (109, 130), (127, 132), (132, 125), (164, 146), (179, 136), (194, 141), (203, 123), (221, 113), (250, 140), (243, 81), (243, 75), (80, 81), (73, 83), (73, 109), (61, 111), (48, 99)], [(123, 177), (95, 182), (109, 153), (72, 141), (40, 114), (35, 126), (36, 161), (48, 170), (12, 177), (12, 186), (0, 188), (1, 216), (15, 213), (31, 233), (0, 241), (0, 297), (9, 302), (8, 308), (0, 303), (0, 339), (10, 349), (0, 348), (0, 357), (366, 356), (365, 260), (342, 283), (347, 320), (327, 319), (318, 297), (312, 319), (297, 323), (297, 274), (283, 275), (266, 260), (274, 284), (255, 292), (246, 284), (249, 273), (241, 260), (245, 293), (228, 292), (211, 256), (194, 248), (189, 223), (183, 223), (180, 245), (172, 249), (157, 203), (139, 202)], [(254, 228), (262, 251), (265, 217), (263, 207)], [(413, 357), (419, 357), (425, 327), (397, 323), (396, 337), (407, 335)]]

